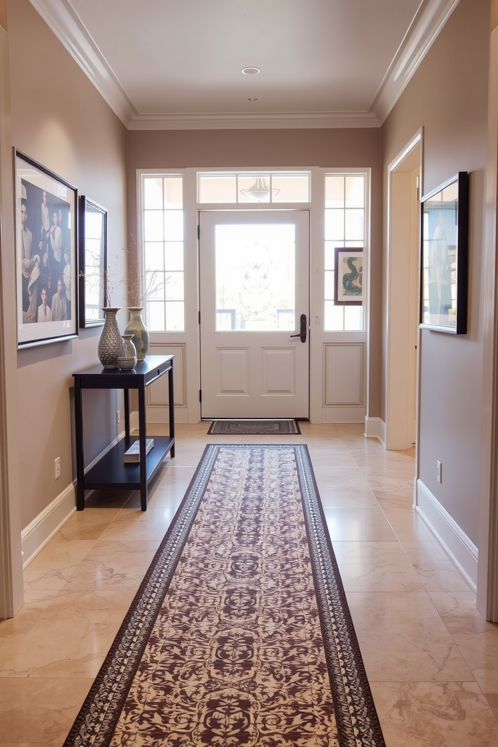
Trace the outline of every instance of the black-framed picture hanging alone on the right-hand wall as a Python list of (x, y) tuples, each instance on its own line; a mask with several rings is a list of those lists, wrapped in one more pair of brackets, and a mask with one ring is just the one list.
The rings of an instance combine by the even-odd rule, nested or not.
[(420, 326), (467, 334), (469, 175), (460, 171), (420, 200)]

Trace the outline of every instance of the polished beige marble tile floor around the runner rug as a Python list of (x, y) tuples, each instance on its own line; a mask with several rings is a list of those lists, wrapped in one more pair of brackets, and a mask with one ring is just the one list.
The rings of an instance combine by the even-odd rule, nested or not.
[[(25, 569), (0, 621), (0, 747), (60, 747), (208, 443), (306, 443), (387, 747), (498, 745), (498, 624), (412, 509), (414, 453), (360, 425), (208, 436), (177, 425), (140, 511), (95, 492)], [(160, 426), (149, 433), (161, 433)]]

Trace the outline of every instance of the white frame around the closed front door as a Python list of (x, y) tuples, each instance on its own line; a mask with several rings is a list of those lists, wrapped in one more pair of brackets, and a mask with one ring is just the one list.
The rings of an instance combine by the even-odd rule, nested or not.
[[(261, 208), (261, 209), (260, 209)], [(299, 418), (299, 419), (305, 419), (309, 420), (311, 418), (311, 323), (310, 323), (310, 314), (311, 314), (311, 205), (308, 203), (304, 205), (299, 204), (293, 204), (293, 205), (280, 205), (278, 203), (270, 203), (270, 204), (264, 204), (264, 205), (258, 205), (257, 207), (255, 205), (244, 205), (243, 203), (237, 203), (237, 205), (226, 208), (213, 208), (211, 206), (208, 206), (207, 209), (202, 207), (198, 207), (197, 209), (197, 226), (198, 226), (198, 256), (197, 256), (197, 262), (198, 262), (198, 293), (199, 293), (199, 391), (202, 391), (202, 325), (200, 323), (200, 309), (201, 309), (201, 257), (200, 257), (200, 218), (202, 213), (222, 213), (222, 214), (237, 214), (237, 215), (243, 215), (246, 212), (250, 212), (254, 214), (255, 211), (258, 211), (260, 213), (290, 213), (295, 214), (296, 212), (303, 213), (305, 212), (307, 214), (307, 220), (308, 220), (308, 252), (307, 252), (307, 258), (306, 258), (306, 265), (308, 267), (308, 299), (307, 299), (307, 309), (306, 309), (306, 316), (308, 319), (308, 338), (306, 341), (306, 350), (308, 351), (308, 361), (307, 361), (307, 376), (308, 376), (308, 396), (307, 396), (307, 416), (306, 418)], [(299, 323), (298, 323), (298, 316), (297, 314), (302, 313), (299, 309), (296, 309), (296, 329), (299, 330)], [(295, 331), (296, 331), (295, 329)], [(208, 418), (207, 415), (202, 415), (202, 403), (199, 403), (199, 415), (202, 420), (202, 418)]]

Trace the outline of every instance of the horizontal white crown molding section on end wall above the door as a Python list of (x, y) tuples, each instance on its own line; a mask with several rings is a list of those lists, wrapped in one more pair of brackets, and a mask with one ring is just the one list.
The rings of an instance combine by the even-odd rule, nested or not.
[(329, 111), (264, 114), (140, 114), (128, 130), (251, 130), (379, 127), (375, 114)]

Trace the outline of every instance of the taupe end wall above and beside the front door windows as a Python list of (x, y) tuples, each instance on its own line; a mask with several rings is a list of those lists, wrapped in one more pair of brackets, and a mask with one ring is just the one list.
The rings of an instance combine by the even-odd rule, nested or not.
[(137, 235), (137, 169), (352, 168), (372, 170), (369, 415), (380, 414), (382, 170), (379, 128), (174, 130), (128, 133), (128, 231)]

